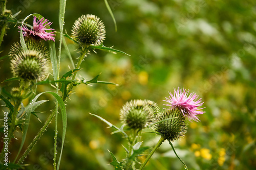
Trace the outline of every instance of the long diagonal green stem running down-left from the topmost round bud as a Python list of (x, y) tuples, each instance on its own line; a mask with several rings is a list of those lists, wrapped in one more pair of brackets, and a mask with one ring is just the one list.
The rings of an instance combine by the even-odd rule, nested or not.
[[(78, 69), (80, 67), (80, 64), (83, 60), (83, 57), (87, 54), (88, 50), (83, 51), (83, 53), (81, 53), (77, 66), (76, 68)], [(75, 80), (76, 77), (76, 72), (73, 75), (72, 80)], [(73, 85), (71, 84), (69, 89), (67, 90), (67, 94), (72, 90)], [(63, 95), (64, 96), (64, 95)], [(62, 97), (62, 100), (65, 101), (67, 97)], [(44, 134), (44, 132), (46, 131), (47, 127), (49, 126), (49, 124), (51, 123), (52, 118), (56, 115), (56, 108), (58, 108), (59, 106), (55, 107), (55, 109), (53, 110), (53, 112), (50, 114), (50, 116), (48, 117), (46, 123), (44, 124), (44, 126), (40, 129), (40, 131), (37, 133), (37, 135), (35, 136), (35, 138), (33, 139), (33, 141), (30, 143), (29, 147), (27, 148), (27, 150), (24, 152), (24, 154), (20, 157), (19, 161), (17, 162), (17, 164), (21, 164), (24, 159), (28, 156), (28, 154), (30, 153), (31, 149), (34, 147), (34, 145), (36, 144), (36, 142), (39, 140), (39, 138)], [(56, 133), (55, 133), (56, 135)]]

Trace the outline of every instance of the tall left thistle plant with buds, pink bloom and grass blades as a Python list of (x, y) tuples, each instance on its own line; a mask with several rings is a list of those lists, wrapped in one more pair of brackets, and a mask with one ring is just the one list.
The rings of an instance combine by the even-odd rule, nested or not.
[[(86, 80), (86, 78), (77, 79), (77, 72), (80, 71), (81, 62), (84, 60), (84, 57), (88, 55), (90, 51), (103, 50), (111, 53), (121, 53), (127, 55), (126, 53), (115, 50), (112, 47), (106, 47), (103, 45), (103, 40), (105, 39), (105, 27), (103, 21), (101, 21), (97, 16), (92, 14), (82, 15), (79, 17), (73, 26), (73, 29), (70, 30), (72, 36), (69, 36), (68, 33), (65, 34), (66, 38), (69, 38), (73, 43), (77, 44), (77, 49), (80, 50), (80, 56), (78, 57), (76, 68), (73, 70), (67, 70), (66, 74), (63, 76), (59, 75), (59, 70), (61, 67), (60, 57), (61, 57), (61, 46), (62, 42), (66, 44), (65, 39), (63, 38), (63, 27), (65, 19), (65, 7), (66, 1), (60, 1), (60, 14), (59, 14), (59, 24), (60, 31), (56, 32), (55, 29), (51, 28), (52, 22), (44, 18), (40, 14), (34, 13), (28, 15), (22, 22), (15, 20), (15, 24), (18, 26), (18, 32), (20, 33), (20, 41), (15, 42), (10, 51), (9, 58), (10, 70), (13, 73), (13, 77), (6, 80), (5, 82), (18, 81), (18, 87), (13, 87), (10, 92), (4, 90), (5, 88), (0, 88), (0, 100), (2, 100), (6, 107), (9, 109), (7, 118), (4, 119), (4, 127), (0, 127), (1, 130), (6, 131), (7, 134), (4, 138), (9, 147), (11, 144), (10, 141), (13, 141), (14, 132), (17, 128), (22, 131), (22, 141), (20, 148), (16, 155), (16, 158), (12, 161), (3, 161), (3, 157), (8, 155), (8, 151), (2, 150), (0, 155), (0, 168), (23, 168), (23, 162), (38, 142), (40, 137), (44, 134), (52, 122), (53, 117), (55, 117), (55, 133), (54, 133), (54, 157), (53, 157), (53, 168), (59, 169), (60, 160), (63, 151), (63, 143), (65, 140), (65, 134), (67, 129), (67, 112), (65, 103), (67, 104), (67, 99), (71, 95), (74, 86), (80, 84), (112, 84), (115, 83), (99, 81), (99, 75), (95, 76), (92, 80)], [(9, 17), (14, 18), (11, 13), (8, 13), (8, 10), (5, 9), (6, 1), (1, 2), (3, 7), (3, 13), (1, 18)], [(25, 21), (33, 16), (33, 26), (30, 26)], [(8, 22), (6, 20), (1, 20), (1, 36), (0, 44), (3, 41), (3, 36), (5, 30), (7, 29)], [(2, 26), (3, 22), (3, 26)], [(59, 51), (58, 56), (56, 55), (55, 41), (59, 36)], [(67, 47), (67, 45), (65, 45)], [(68, 48), (66, 49), (68, 52)], [(70, 57), (71, 63), (73, 63), (72, 57)], [(50, 72), (48, 69), (52, 67), (53, 72)], [(53, 79), (49, 77), (53, 75)], [(45, 91), (37, 94), (38, 85), (48, 85), (53, 86), (56, 90), (54, 91)], [(61, 88), (59, 88), (61, 85)], [(59, 94), (61, 92), (61, 94)], [(38, 134), (34, 137), (32, 142), (29, 144), (25, 152), (20, 156), (23, 149), (23, 145), (26, 139), (26, 134), (30, 124), (31, 114), (36, 115), (35, 109), (47, 102), (46, 100), (37, 101), (39, 96), (49, 93), (54, 96), (55, 108), (47, 118), (44, 126), (40, 129)], [(29, 104), (24, 105), (24, 100), (28, 99)], [(59, 159), (57, 161), (57, 134), (58, 134), (58, 123), (57, 115), (58, 112), (62, 116), (62, 142), (61, 150), (59, 154)], [(36, 115), (37, 116), (37, 115)], [(6, 130), (4, 130), (6, 129)], [(9, 147), (10, 148), (10, 147)]]

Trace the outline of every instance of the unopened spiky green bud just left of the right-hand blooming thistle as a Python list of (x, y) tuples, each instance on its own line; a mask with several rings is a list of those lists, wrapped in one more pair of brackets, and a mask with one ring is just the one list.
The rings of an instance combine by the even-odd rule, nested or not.
[(132, 100), (123, 105), (120, 119), (128, 127), (141, 130), (153, 122), (157, 108), (158, 106), (152, 101)]

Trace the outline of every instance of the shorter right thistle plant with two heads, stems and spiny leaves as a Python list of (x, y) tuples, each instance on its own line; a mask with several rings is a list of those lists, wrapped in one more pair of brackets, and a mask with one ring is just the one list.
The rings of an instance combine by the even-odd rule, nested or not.
[[(172, 142), (181, 139), (185, 135), (187, 130), (186, 119), (193, 119), (198, 122), (199, 119), (195, 115), (204, 113), (202, 111), (203, 108), (198, 108), (203, 104), (201, 99), (197, 100), (198, 95), (195, 93), (188, 95), (188, 92), (189, 90), (186, 91), (186, 89), (182, 91), (180, 87), (174, 90), (174, 95), (169, 92), (170, 96), (166, 98), (168, 104), (165, 104), (168, 108), (162, 111), (160, 111), (157, 103), (149, 100), (132, 100), (125, 103), (120, 110), (120, 120), (123, 123), (121, 128), (112, 125), (100, 116), (92, 114), (108, 125), (112, 125), (111, 127), (116, 129), (113, 133), (121, 132), (123, 137), (127, 139), (128, 148), (125, 148), (126, 158), (119, 162), (114, 154), (110, 152), (113, 158), (110, 164), (118, 170), (141, 170), (146, 166), (160, 145), (167, 140), (177, 158), (183, 163), (185, 169), (187, 169), (186, 164), (176, 153)], [(154, 131), (151, 133), (155, 133), (161, 137), (150, 154), (147, 155), (145, 161), (140, 163), (137, 158), (145, 155), (144, 152), (150, 148), (146, 146), (141, 147), (143, 142), (141, 132), (145, 129), (151, 129)]]

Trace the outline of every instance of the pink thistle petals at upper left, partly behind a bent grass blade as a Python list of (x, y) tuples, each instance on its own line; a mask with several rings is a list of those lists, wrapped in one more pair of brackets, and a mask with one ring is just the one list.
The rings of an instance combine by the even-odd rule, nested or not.
[[(53, 40), (55, 41), (55, 34), (53, 34), (54, 32), (46, 32), (46, 30), (54, 30), (54, 29), (47, 29), (48, 26), (50, 26), (52, 24), (52, 22), (48, 22), (48, 19), (44, 19), (41, 18), (40, 20), (37, 19), (37, 17), (34, 16), (34, 21), (33, 21), (33, 29), (29, 30), (27, 28), (27, 26), (23, 26), (22, 31), (23, 31), (23, 36), (29, 36), (29, 35), (33, 35), (33, 36), (38, 36), (42, 39), (46, 40)], [(20, 26), (18, 27), (18, 29), (20, 30)]]

